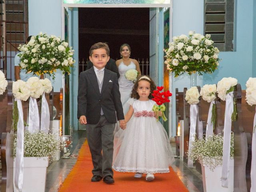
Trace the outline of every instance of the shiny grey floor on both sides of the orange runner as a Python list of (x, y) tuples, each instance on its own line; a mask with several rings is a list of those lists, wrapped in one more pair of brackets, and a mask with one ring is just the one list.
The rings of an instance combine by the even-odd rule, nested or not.
[[(71, 150), (71, 154), (78, 154), (79, 149), (86, 139), (85, 137), (85, 130), (73, 132), (73, 148)], [(172, 148), (175, 153), (175, 146), (172, 145)], [(57, 192), (59, 186), (62, 184), (75, 163), (76, 158), (60, 159), (59, 161), (52, 162), (47, 170), (45, 191)], [(199, 174), (195, 168), (188, 168), (185, 163), (180, 161), (179, 158), (175, 158), (172, 168), (190, 192), (203, 192), (202, 175)]]

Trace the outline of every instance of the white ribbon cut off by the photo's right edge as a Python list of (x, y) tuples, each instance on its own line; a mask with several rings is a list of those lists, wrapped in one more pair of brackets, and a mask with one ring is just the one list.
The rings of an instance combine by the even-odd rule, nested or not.
[(252, 165), (251, 165), (251, 192), (256, 191), (256, 113), (254, 115), (252, 132)]

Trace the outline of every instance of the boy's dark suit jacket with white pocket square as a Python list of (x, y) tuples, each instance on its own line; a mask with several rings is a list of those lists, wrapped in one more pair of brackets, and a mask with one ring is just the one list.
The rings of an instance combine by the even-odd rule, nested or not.
[(101, 93), (93, 67), (80, 73), (77, 98), (77, 117), (85, 115), (88, 124), (99, 122), (100, 108), (109, 123), (124, 120), (117, 75), (106, 68)]

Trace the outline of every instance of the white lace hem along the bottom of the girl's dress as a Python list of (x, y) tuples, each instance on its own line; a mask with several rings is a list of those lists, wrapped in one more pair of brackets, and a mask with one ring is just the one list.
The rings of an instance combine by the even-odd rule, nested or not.
[(112, 166), (112, 168), (118, 172), (136, 172), (136, 173), (144, 173), (144, 174), (154, 174), (154, 173), (168, 173), (170, 172), (169, 168), (132, 168), (132, 167), (116, 167)]

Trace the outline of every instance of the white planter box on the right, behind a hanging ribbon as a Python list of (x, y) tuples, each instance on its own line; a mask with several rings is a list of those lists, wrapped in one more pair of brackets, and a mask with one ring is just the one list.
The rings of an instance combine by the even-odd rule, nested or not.
[(234, 191), (234, 159), (230, 159), (228, 188), (221, 185), (222, 166), (217, 166), (214, 171), (209, 166), (201, 164), (204, 192), (233, 192)]

